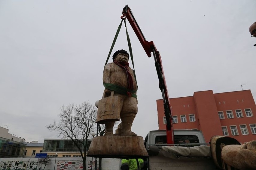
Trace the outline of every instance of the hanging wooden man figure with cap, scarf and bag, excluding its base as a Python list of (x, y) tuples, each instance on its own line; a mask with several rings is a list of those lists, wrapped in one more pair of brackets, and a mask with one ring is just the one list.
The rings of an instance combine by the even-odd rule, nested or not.
[(115, 135), (136, 136), (131, 127), (138, 112), (137, 83), (128, 61), (127, 51), (118, 50), (113, 55), (113, 63), (106, 64), (104, 68), (105, 90), (99, 101), (97, 123), (105, 124), (105, 135), (113, 135), (114, 123), (120, 116), (122, 123)]

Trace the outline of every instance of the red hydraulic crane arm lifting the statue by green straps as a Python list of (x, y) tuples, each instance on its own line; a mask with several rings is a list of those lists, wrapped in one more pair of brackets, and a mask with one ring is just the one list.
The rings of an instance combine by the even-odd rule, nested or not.
[(141, 29), (139, 28), (138, 23), (136, 22), (133, 13), (126, 5), (123, 8), (122, 12), (123, 16), (121, 16), (122, 19), (125, 19), (126, 17), (130, 23), (130, 25), (133, 28), (133, 31), (137, 35), (142, 47), (144, 48), (146, 54), (148, 57), (151, 57), (151, 52), (153, 53), (154, 60), (155, 60), (155, 66), (157, 70), (157, 76), (159, 79), (159, 88), (162, 92), (163, 96), (163, 106), (164, 106), (164, 114), (166, 117), (166, 138), (167, 138), (167, 143), (172, 144), (174, 143), (174, 138), (173, 138), (173, 124), (172, 124), (172, 113), (171, 113), (171, 106), (170, 106), (170, 100), (169, 100), (169, 95), (168, 95), (168, 90), (166, 86), (166, 81), (164, 77), (164, 72), (163, 72), (163, 66), (162, 66), (162, 60), (159, 51), (157, 50), (156, 46), (154, 45), (153, 41), (148, 42)]

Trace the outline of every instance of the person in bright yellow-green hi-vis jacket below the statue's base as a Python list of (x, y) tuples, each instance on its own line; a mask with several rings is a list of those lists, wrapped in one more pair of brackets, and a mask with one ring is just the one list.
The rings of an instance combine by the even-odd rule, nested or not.
[(138, 170), (144, 168), (143, 159), (122, 159), (121, 170)]

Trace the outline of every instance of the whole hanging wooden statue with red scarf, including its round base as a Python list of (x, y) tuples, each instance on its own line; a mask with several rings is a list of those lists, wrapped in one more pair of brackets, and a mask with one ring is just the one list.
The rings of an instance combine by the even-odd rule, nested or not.
[[(127, 51), (118, 50), (113, 55), (113, 63), (104, 67), (105, 90), (98, 104), (96, 122), (105, 124), (105, 135), (93, 138), (87, 156), (122, 159), (148, 157), (143, 137), (131, 131), (138, 112), (138, 86), (128, 61)], [(114, 123), (120, 119), (121, 123), (113, 134)]]

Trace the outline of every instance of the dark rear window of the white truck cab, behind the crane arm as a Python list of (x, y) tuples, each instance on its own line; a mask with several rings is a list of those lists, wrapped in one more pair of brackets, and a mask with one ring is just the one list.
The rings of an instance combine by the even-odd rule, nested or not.
[[(166, 135), (156, 137), (156, 144), (166, 143)], [(199, 143), (199, 139), (195, 135), (174, 135), (174, 143)]]

